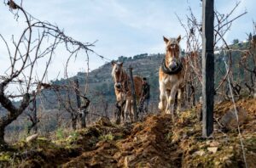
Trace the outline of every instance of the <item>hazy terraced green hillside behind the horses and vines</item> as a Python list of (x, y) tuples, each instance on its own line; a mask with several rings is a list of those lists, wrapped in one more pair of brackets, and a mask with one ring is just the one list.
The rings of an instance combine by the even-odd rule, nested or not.
[[(248, 48), (247, 43), (237, 43), (230, 46), (230, 48), (237, 49), (245, 49)], [(220, 50), (216, 49), (215, 55), (215, 70), (224, 70), (224, 53)], [(184, 54), (184, 53), (183, 53)], [(241, 53), (234, 51), (232, 52), (233, 62), (232, 64), (238, 64), (239, 58), (241, 57)], [(148, 78), (148, 82), (151, 86), (151, 99), (153, 101), (157, 101), (159, 98), (159, 82), (158, 82), (158, 70), (160, 67), (160, 63), (164, 58), (163, 53), (158, 54), (138, 54), (133, 57), (125, 57), (120, 56), (117, 60), (124, 63), (124, 68), (128, 73), (128, 67), (131, 65), (133, 68), (133, 75), (135, 76), (144, 76)], [(92, 70), (89, 73), (89, 92), (87, 94), (88, 98), (90, 98), (91, 102), (94, 104), (108, 102), (113, 104), (115, 101), (114, 96), (114, 89), (113, 89), (113, 79), (111, 76), (112, 71), (112, 64), (110, 62), (103, 64), (96, 70)], [(240, 71), (233, 71), (234, 76), (238, 76), (241, 74)], [(216, 75), (218, 73), (216, 72)], [(85, 74), (79, 72), (77, 76), (73, 76), (72, 78), (68, 79), (68, 81), (73, 81), (74, 79), (79, 79), (80, 90), (84, 91), (84, 84), (85, 84)], [(221, 76), (216, 76), (216, 83), (221, 80)], [(63, 85), (67, 84), (67, 79), (61, 79), (57, 81), (52, 81), (53, 84), (56, 85)], [(55, 99), (55, 93), (52, 91), (44, 91), (44, 96), (47, 97), (48, 100)], [(73, 97), (74, 98), (74, 97)], [(47, 104), (47, 103), (45, 103)], [(44, 104), (44, 105), (45, 105)], [(49, 104), (52, 105), (52, 104)], [(48, 105), (46, 105), (48, 106)], [(51, 109), (54, 107), (49, 107), (46, 109)]]

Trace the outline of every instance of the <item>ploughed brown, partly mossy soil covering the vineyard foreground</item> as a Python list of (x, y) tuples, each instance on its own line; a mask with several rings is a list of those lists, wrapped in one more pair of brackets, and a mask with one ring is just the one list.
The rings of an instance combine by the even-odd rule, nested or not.
[[(241, 137), (248, 167), (256, 165), (256, 100), (237, 106), (247, 111)], [(38, 137), (0, 152), (0, 167), (245, 167), (237, 129), (224, 130), (219, 119), (232, 103), (216, 104), (214, 133), (201, 137), (200, 106), (171, 115), (148, 115), (136, 123), (96, 125), (64, 132), (55, 140)], [(59, 132), (60, 134), (60, 132)]]

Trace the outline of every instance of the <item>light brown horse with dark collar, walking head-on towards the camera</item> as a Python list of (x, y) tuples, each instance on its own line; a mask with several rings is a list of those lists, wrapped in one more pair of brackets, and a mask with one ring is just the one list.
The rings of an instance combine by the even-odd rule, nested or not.
[(166, 112), (166, 114), (172, 114), (172, 119), (174, 119), (174, 102), (176, 93), (177, 113), (181, 108), (181, 98), (183, 94), (185, 70), (183, 68), (183, 59), (179, 57), (180, 40), (181, 36), (170, 39), (167, 39), (164, 36), (164, 41), (166, 42), (166, 57), (163, 59), (159, 70), (159, 109)]

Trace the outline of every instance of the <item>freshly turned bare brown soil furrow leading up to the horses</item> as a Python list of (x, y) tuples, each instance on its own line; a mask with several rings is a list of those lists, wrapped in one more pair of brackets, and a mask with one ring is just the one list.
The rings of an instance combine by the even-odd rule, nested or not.
[[(101, 141), (64, 167), (180, 167), (182, 151), (171, 144), (171, 116), (148, 116), (132, 126), (130, 135), (117, 141)], [(113, 136), (120, 132), (114, 132)]]

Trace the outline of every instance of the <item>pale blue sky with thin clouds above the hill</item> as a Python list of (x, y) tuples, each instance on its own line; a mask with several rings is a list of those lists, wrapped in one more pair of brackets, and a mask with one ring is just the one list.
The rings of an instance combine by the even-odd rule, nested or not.
[[(20, 2), (20, 1), (16, 1)], [(195, 16), (201, 20), (200, 0), (26, 0), (23, 8), (39, 20), (48, 20), (64, 29), (68, 36), (82, 42), (96, 42), (96, 53), (108, 59), (117, 59), (120, 55), (133, 56), (139, 53), (164, 53), (162, 36), (185, 35), (178, 23), (177, 14), (184, 22), (190, 6)], [(215, 0), (215, 8), (226, 14), (236, 4), (236, 0)], [(234, 38), (241, 41), (246, 33), (253, 31), (252, 21), (256, 20), (255, 0), (241, 0), (236, 14), (245, 10), (247, 14), (236, 20), (230, 32), (225, 36), (227, 42)], [(22, 20), (14, 20), (9, 8), (0, 3), (0, 33), (7, 39), (18, 35)], [(1, 45), (3, 43), (0, 43)], [(182, 42), (185, 48), (185, 42)], [(8, 57), (0, 47), (0, 61)], [(63, 69), (65, 56), (56, 51), (55, 59), (49, 69), (49, 80), (54, 79)], [(64, 53), (65, 54), (65, 53)], [(61, 55), (61, 56), (60, 56)], [(65, 60), (64, 60), (65, 59)], [(83, 60), (83, 61), (79, 61)], [(96, 55), (90, 55), (90, 70), (105, 63)], [(2, 73), (3, 68), (0, 68)], [(85, 70), (83, 55), (70, 65), (70, 76)], [(60, 76), (61, 77), (61, 76)]]

